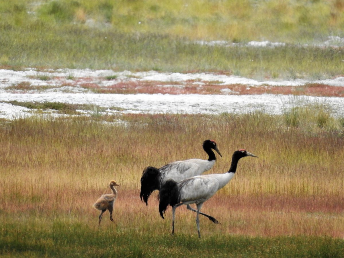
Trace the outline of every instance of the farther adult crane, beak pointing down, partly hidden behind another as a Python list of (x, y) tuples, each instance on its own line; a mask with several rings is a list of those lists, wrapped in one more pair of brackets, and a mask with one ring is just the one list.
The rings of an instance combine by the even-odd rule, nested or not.
[[(183, 161), (175, 161), (162, 166), (161, 168), (154, 168), (148, 166), (142, 172), (141, 177), (141, 192), (140, 198), (142, 202), (145, 202), (148, 206), (148, 198), (155, 190), (160, 190), (160, 187), (167, 181), (173, 180), (180, 182), (186, 178), (192, 176), (201, 175), (205, 171), (211, 169), (216, 161), (215, 150), (221, 157), (221, 153), (217, 148), (217, 144), (214, 140), (205, 140), (203, 142), (203, 149), (208, 154), (207, 160), (202, 159), (189, 159)], [(187, 205), (187, 209), (196, 212), (195, 209)], [(203, 213), (200, 213), (204, 215)], [(211, 216), (207, 216), (212, 222), (218, 223), (216, 219)]]

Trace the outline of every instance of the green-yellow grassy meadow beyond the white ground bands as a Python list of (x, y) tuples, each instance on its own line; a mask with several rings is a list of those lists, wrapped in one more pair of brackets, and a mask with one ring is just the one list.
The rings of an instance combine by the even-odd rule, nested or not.
[[(0, 0), (0, 66), (221, 72), (256, 79), (344, 74), (344, 1)], [(249, 41), (286, 43), (250, 47)], [(231, 46), (205, 45), (226, 41)]]

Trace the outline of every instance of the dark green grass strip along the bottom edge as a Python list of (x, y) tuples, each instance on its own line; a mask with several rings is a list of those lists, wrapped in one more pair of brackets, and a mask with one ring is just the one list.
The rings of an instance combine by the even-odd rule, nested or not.
[(95, 228), (78, 222), (6, 223), (0, 254), (8, 257), (342, 257), (344, 241), (329, 237), (196, 236)]

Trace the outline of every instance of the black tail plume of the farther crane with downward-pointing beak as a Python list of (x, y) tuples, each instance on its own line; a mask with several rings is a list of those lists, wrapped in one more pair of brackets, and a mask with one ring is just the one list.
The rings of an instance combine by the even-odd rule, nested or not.
[(159, 190), (160, 171), (153, 166), (148, 166), (142, 172), (140, 198), (148, 206), (148, 198), (155, 190)]

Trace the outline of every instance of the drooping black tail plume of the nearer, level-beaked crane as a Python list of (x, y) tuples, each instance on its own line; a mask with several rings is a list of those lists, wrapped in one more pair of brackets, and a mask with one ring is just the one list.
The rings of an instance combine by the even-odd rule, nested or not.
[(168, 180), (166, 183), (161, 186), (159, 192), (159, 212), (160, 216), (164, 218), (164, 213), (167, 209), (167, 206), (174, 206), (179, 203), (179, 190), (177, 182), (173, 180)]

